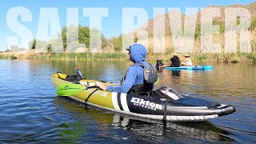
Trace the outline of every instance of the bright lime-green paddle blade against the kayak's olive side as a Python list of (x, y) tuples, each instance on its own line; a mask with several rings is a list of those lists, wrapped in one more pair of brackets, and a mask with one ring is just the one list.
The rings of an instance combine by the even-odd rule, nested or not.
[(84, 86), (79, 86), (72, 83), (64, 83), (57, 88), (58, 96), (70, 96), (74, 94), (78, 94), (82, 90), (84, 90)]

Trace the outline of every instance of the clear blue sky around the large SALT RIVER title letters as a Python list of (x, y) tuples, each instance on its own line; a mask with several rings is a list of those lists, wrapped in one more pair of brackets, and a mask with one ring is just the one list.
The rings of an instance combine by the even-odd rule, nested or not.
[[(253, 0), (243, 1), (226, 1), (226, 0), (204, 0), (204, 1), (192, 1), (192, 0), (9, 0), (2, 2), (0, 6), (0, 51), (6, 50), (6, 37), (18, 36), (6, 25), (6, 13), (13, 7), (22, 6), (30, 10), (32, 14), (32, 21), (21, 22), (26, 26), (28, 30), (33, 34), (33, 38), (37, 38), (38, 34), (38, 18), (40, 9), (42, 7), (54, 7), (58, 8), (59, 22), (61, 26), (66, 26), (66, 10), (68, 7), (78, 8), (79, 25), (89, 26), (89, 18), (82, 16), (83, 7), (106, 7), (108, 8), (108, 17), (102, 18), (102, 33), (106, 38), (117, 37), (122, 33), (122, 8), (134, 7), (142, 8), (146, 10), (148, 18), (153, 18), (154, 7), (165, 7), (166, 13), (169, 7), (179, 7), (182, 12), (185, 12), (186, 7), (198, 7), (198, 10), (208, 5), (211, 6), (228, 6), (231, 4), (249, 4), (254, 2)], [(20, 39), (18, 39), (20, 40)]]

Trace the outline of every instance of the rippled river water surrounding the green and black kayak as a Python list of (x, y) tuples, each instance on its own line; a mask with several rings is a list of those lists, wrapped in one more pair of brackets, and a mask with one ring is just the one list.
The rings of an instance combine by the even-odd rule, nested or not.
[[(74, 64), (86, 78), (118, 83), (131, 63)], [(0, 143), (255, 143), (256, 65), (202, 64), (214, 70), (162, 70), (155, 88), (170, 86), (182, 94), (232, 104), (237, 111), (207, 122), (163, 124), (94, 107), (85, 109), (58, 97), (50, 74), (75, 74), (68, 61), (0, 60)]]

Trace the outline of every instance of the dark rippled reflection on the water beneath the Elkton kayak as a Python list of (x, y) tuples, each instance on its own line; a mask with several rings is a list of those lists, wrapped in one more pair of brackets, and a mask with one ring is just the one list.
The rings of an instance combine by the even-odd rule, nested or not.
[[(230, 132), (210, 122), (166, 122), (101, 110), (55, 98), (58, 109), (68, 112), (70, 122), (58, 125), (60, 138), (92, 142), (234, 142)], [(90, 139), (94, 134), (94, 139)], [(97, 135), (95, 137), (95, 135)], [(96, 138), (96, 139), (95, 139)]]

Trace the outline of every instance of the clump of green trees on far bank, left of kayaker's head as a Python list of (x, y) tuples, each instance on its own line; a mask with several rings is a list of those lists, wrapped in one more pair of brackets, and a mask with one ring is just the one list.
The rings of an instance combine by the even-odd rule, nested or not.
[[(101, 34), (101, 32), (97, 29), (92, 29), (92, 30), (93, 30), (92, 32), (94, 32), (94, 34), (96, 35)], [(69, 39), (67, 39), (67, 31), (69, 31), (69, 35), (68, 35)], [(102, 48), (104, 48), (107, 45), (107, 40), (103, 34), (101, 35), (102, 35)], [(93, 40), (92, 42), (95, 42), (94, 45), (97, 45), (98, 41)], [(78, 43), (85, 44), (85, 45), (84, 46), (78, 45)], [(49, 46), (49, 44), (51, 45)], [(45, 52), (59, 53), (59, 52), (63, 52), (63, 50), (66, 52), (88, 51), (90, 48), (90, 29), (87, 26), (78, 26), (78, 27), (63, 26), (62, 30), (58, 33), (57, 38), (52, 38), (48, 42), (40, 41), (38, 39), (33, 39), (33, 41), (29, 42), (29, 46), (30, 46), (30, 49), (36, 50), (39, 53), (45, 53)]]

